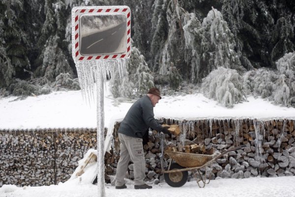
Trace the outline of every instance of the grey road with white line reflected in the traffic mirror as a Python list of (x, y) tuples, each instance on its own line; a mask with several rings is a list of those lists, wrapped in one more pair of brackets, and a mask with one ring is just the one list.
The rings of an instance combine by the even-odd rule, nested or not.
[(117, 26), (91, 33), (81, 38), (82, 55), (124, 53), (126, 51), (126, 22)]

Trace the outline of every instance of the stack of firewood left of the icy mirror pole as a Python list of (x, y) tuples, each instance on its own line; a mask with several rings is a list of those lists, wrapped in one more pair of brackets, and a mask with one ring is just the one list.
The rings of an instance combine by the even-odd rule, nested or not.
[(0, 131), (0, 186), (64, 182), (95, 147), (96, 130)]

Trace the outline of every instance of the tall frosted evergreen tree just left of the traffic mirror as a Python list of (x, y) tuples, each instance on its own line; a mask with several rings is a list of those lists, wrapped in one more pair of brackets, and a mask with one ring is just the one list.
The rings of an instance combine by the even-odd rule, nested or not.
[(65, 4), (59, 0), (47, 0), (45, 4), (45, 22), (38, 40), (38, 45), (42, 49), (38, 57), (41, 65), (34, 73), (35, 76), (41, 77), (37, 80), (39, 84), (54, 82), (60, 73), (73, 75), (64, 51), (67, 46), (62, 45), (65, 32)]

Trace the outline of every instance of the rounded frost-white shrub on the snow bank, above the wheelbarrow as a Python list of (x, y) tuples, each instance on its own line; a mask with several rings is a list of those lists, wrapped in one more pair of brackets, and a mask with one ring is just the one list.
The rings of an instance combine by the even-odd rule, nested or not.
[(245, 100), (242, 78), (236, 70), (219, 67), (203, 79), (202, 92), (209, 99), (215, 99), (225, 107)]

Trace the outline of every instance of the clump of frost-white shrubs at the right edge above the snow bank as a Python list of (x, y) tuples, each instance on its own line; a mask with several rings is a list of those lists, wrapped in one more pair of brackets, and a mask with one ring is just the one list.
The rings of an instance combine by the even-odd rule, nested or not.
[(295, 107), (295, 53), (288, 53), (276, 62), (277, 71), (267, 68), (251, 70), (243, 75), (247, 94)]

